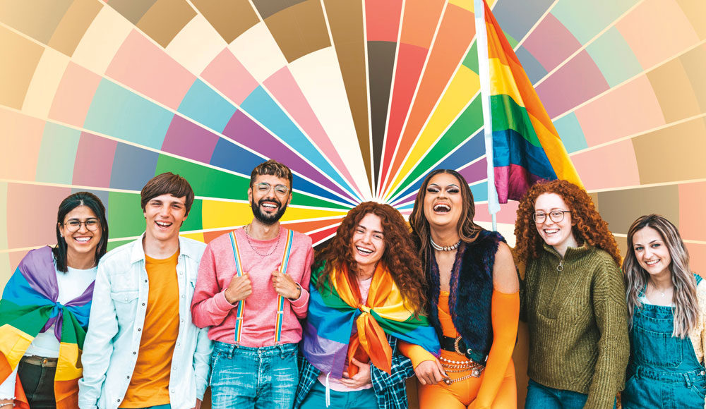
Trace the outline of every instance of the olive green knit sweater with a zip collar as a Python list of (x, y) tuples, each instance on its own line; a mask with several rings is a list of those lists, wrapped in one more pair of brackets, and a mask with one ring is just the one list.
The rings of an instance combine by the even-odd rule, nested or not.
[(561, 256), (544, 245), (527, 262), (522, 315), (530, 327), (528, 374), (555, 389), (587, 393), (584, 408), (613, 408), (630, 355), (628, 310), (620, 269), (590, 245)]

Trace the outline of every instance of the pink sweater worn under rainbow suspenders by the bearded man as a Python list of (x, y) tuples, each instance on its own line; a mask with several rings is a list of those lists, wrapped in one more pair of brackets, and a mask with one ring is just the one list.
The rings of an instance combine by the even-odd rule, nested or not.
[[(225, 299), (225, 289), (235, 274), (235, 260), (229, 233), (208, 243), (198, 267), (196, 289), (191, 300), (193, 323), (201, 328), (211, 326), (208, 338), (213, 341), (235, 343), (235, 316), (237, 305)], [(275, 316), (277, 315), (277, 293), (272, 286), (272, 271), (278, 269), (285, 252), (285, 228), (280, 226), (280, 242), (277, 250), (268, 257), (256, 254), (248, 243), (242, 228), (235, 231), (240, 250), (243, 271), (250, 274), (253, 293), (245, 299), (243, 331), (240, 344), (248, 347), (272, 346), (275, 343)], [(276, 239), (255, 240), (252, 245), (261, 254), (272, 250)], [(309, 279), (313, 249), (311, 238), (294, 233), (292, 251), (289, 254), (287, 275), (301, 286), (301, 296), (289, 301), (285, 298), (285, 315), (282, 319), (281, 343), (301, 341), (299, 319), (306, 317), (309, 304)]]

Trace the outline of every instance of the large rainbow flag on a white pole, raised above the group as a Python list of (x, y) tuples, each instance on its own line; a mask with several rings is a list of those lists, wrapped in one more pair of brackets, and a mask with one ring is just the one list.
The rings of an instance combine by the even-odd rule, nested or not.
[(583, 186), (513, 47), (485, 0), (474, 0), (488, 161), (488, 207), (520, 200), (532, 184)]

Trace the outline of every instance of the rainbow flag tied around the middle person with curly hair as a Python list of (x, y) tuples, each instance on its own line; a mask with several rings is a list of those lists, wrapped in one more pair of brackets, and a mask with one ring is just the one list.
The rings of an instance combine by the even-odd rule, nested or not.
[[(385, 334), (439, 355), (441, 347), (436, 331), (426, 317), (414, 317), (407, 310), (402, 293), (381, 264), (378, 263), (373, 274), (365, 305), (357, 301), (359, 292), (352, 288), (344, 272), (333, 271), (321, 291), (316, 282), (323, 266), (312, 272), (302, 350), (304, 357), (321, 372), (341, 378), (348, 363), (352, 377), (357, 367), (349, 361), (355, 357), (361, 362), (370, 358), (373, 365), (389, 374), (392, 349)], [(351, 336), (354, 324), (357, 334)]]

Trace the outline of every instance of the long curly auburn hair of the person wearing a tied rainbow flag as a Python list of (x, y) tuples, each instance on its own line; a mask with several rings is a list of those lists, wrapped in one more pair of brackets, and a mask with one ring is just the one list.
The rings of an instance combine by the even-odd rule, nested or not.
[(323, 272), (316, 281), (316, 288), (321, 290), (326, 281), (330, 280), (331, 272), (334, 269), (342, 270), (344, 266), (347, 267), (349, 274), (348, 281), (357, 282), (358, 264), (353, 257), (352, 238), (355, 228), (366, 214), (380, 217), (383, 225), (385, 251), (380, 262), (390, 270), (390, 275), (400, 288), (407, 307), (414, 311), (414, 315), (424, 315), (426, 283), (421, 262), (414, 251), (412, 238), (409, 237), (407, 222), (402, 214), (389, 204), (364, 202), (348, 212), (338, 226), (336, 236), (316, 254), (315, 268), (318, 269), (325, 262)]

